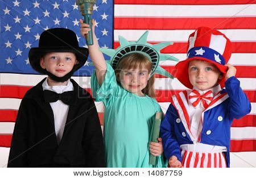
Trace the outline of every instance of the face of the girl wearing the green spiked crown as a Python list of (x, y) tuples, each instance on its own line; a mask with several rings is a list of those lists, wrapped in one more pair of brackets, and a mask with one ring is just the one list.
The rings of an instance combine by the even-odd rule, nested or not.
[(144, 96), (142, 90), (147, 86), (150, 73), (146, 68), (122, 69), (118, 78), (124, 89), (135, 95)]

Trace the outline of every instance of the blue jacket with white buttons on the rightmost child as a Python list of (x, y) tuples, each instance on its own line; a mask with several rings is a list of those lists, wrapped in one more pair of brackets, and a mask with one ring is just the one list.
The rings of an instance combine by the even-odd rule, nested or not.
[[(225, 146), (225, 158), (227, 166), (230, 166), (230, 127), (233, 119), (240, 119), (242, 116), (249, 114), (251, 111), (250, 101), (240, 87), (240, 81), (236, 77), (230, 77), (225, 82), (226, 89), (222, 89), (221, 93), (228, 93), (228, 98), (212, 109), (204, 112), (204, 122), (201, 132), (200, 143), (208, 145)], [(222, 117), (222, 120), (220, 119)], [(179, 161), (181, 159), (180, 145), (193, 144), (185, 130), (184, 124), (176, 120), (180, 118), (174, 105), (168, 107), (166, 116), (160, 127), (163, 140), (164, 155), (167, 159), (176, 156)], [(210, 134), (207, 131), (211, 131)], [(184, 135), (184, 133), (186, 135)], [(183, 135), (182, 135), (183, 133)]]

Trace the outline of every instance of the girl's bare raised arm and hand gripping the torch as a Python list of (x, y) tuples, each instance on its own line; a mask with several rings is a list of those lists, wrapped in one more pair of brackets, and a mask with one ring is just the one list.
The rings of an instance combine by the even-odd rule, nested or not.
[[(85, 36), (85, 34), (88, 34), (88, 31), (90, 31), (89, 24), (85, 24), (82, 19), (79, 20), (81, 27), (81, 35)], [(89, 55), (90, 59), (92, 59), (93, 64), (96, 68), (96, 77), (98, 80), (98, 84), (101, 86), (102, 82), (104, 81), (107, 66), (106, 66), (106, 61), (104, 59), (104, 56), (102, 52), (99, 49), (98, 45), (98, 40), (96, 38), (96, 35), (94, 33), (94, 28), (95, 28), (95, 22), (94, 19), (92, 20), (93, 23), (93, 45), (89, 45)]]

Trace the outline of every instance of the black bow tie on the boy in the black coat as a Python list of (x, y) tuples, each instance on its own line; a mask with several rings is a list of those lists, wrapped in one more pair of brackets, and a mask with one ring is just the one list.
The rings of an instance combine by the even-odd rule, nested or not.
[(44, 90), (44, 100), (46, 102), (56, 102), (61, 100), (66, 105), (72, 105), (75, 102), (75, 92), (65, 91), (64, 93), (58, 94), (54, 91)]

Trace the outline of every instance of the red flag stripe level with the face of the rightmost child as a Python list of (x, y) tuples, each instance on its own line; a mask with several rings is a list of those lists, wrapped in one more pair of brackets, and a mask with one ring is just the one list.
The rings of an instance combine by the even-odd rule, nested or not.
[[(180, 60), (184, 60), (184, 59), (180, 59)], [(174, 74), (174, 67), (175, 66), (168, 65), (168, 66), (161, 66), (161, 67), (163, 69), (167, 70), (167, 72), (169, 72), (171, 74)], [(237, 78), (256, 78), (256, 66), (235, 65), (234, 67), (237, 69), (237, 73), (236, 73)], [(155, 77), (156, 78), (167, 78), (167, 77), (162, 76), (160, 74), (155, 74)]]

